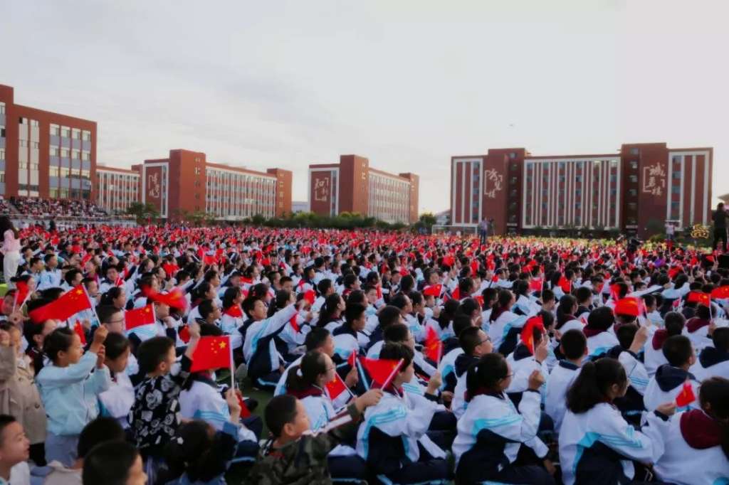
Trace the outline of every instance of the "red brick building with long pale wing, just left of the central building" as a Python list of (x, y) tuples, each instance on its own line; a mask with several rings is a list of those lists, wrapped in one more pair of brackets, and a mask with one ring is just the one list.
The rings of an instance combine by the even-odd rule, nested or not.
[(291, 211), (292, 173), (266, 173), (206, 160), (199, 151), (170, 150), (169, 157), (144, 160), (141, 202), (150, 202), (163, 218), (208, 213), (228, 221), (260, 214), (267, 218)]

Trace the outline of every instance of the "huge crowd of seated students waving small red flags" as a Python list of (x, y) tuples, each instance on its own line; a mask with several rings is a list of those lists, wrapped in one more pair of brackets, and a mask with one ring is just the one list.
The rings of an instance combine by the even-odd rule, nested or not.
[[(223, 484), (231, 467), (250, 484), (729, 483), (729, 270), (713, 254), (9, 230), (0, 484)], [(37, 318), (79, 288), (92, 308)], [(131, 328), (145, 307), (153, 323)], [(232, 380), (195, 367), (211, 336)], [(378, 363), (397, 365), (383, 380)], [(268, 435), (243, 381), (272, 396)]]

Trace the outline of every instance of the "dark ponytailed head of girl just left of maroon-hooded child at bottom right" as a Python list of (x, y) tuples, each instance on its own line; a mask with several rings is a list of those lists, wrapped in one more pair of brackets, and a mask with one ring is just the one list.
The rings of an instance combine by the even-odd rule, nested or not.
[(567, 390), (567, 409), (575, 414), (584, 413), (596, 404), (611, 402), (611, 392), (622, 395), (627, 385), (625, 369), (617, 360), (606, 357), (585, 362)]

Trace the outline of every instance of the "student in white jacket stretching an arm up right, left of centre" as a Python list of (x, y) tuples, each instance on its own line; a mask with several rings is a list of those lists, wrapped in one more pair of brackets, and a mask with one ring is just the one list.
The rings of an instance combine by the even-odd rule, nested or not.
[[(278, 310), (273, 317), (256, 320), (246, 330), (243, 357), (246, 358), (248, 375), (256, 387), (273, 389), (284, 371), (274, 337), (284, 330), (286, 323), (306, 304), (305, 300), (297, 301), (296, 304), (294, 301), (293, 294), (289, 293), (286, 307)], [(257, 314), (253, 316), (259, 317)]]

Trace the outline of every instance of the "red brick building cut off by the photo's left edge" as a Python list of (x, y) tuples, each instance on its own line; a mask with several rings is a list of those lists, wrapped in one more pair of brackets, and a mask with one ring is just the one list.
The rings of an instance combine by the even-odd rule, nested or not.
[(15, 103), (0, 84), (0, 193), (94, 200), (96, 123)]

